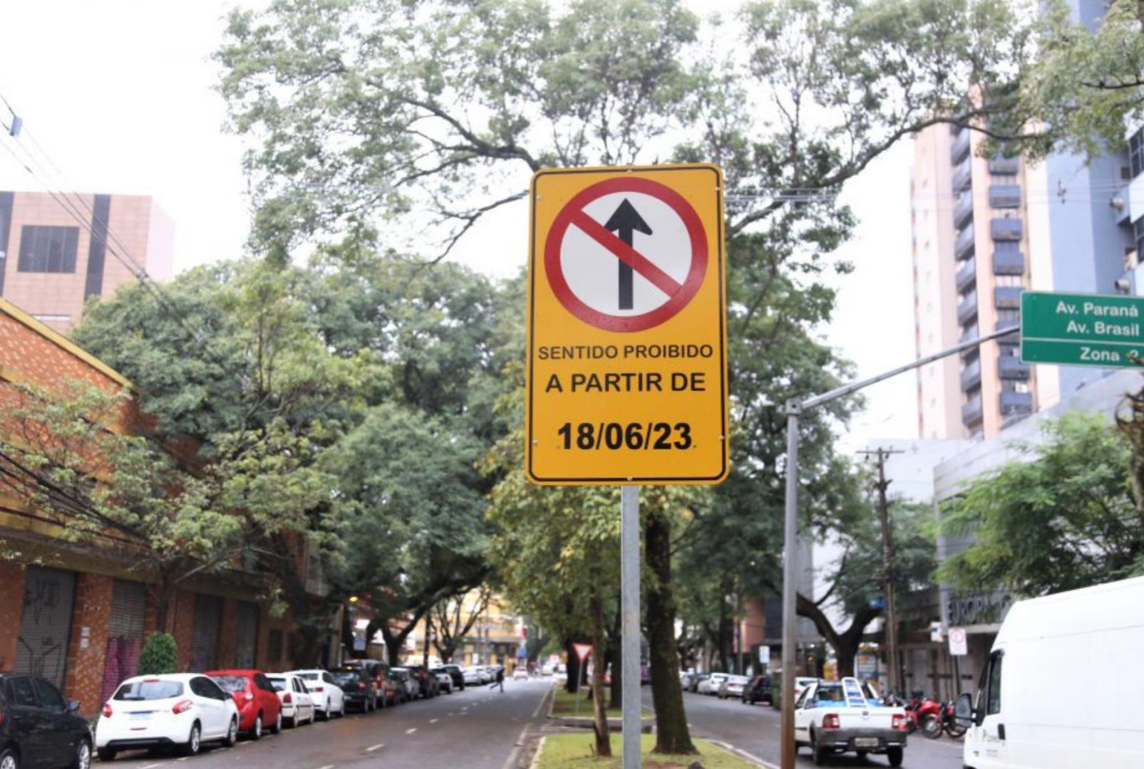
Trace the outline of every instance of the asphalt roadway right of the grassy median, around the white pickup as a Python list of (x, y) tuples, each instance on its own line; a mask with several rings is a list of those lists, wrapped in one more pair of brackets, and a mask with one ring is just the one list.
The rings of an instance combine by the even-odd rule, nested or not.
[[(761, 760), (764, 766), (778, 764), (778, 711), (769, 705), (744, 705), (738, 699), (720, 699), (706, 695), (685, 694), (683, 700), (692, 735), (733, 745)], [(651, 691), (646, 689), (644, 702), (651, 704)], [(815, 766), (807, 748), (799, 754), (799, 766)], [(828, 766), (888, 767), (889, 763), (881, 755), (858, 760), (851, 754), (839, 754)], [(901, 766), (914, 769), (961, 769), (961, 740), (955, 742), (946, 736), (942, 739), (925, 739), (921, 735), (912, 735), (906, 745), (906, 760)]]

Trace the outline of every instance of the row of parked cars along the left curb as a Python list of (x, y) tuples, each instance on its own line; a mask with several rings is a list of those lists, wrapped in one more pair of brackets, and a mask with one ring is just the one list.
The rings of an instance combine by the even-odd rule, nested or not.
[[(485, 672), (495, 678), (495, 668)], [(329, 720), (347, 710), (372, 713), (466, 686), (459, 665), (390, 667), (356, 659), (332, 670), (136, 675), (103, 704), (94, 729), (50, 682), (0, 674), (0, 769), (89, 769), (93, 753), (112, 761), (130, 750), (197, 754), (206, 743), (231, 746), (285, 727)]]

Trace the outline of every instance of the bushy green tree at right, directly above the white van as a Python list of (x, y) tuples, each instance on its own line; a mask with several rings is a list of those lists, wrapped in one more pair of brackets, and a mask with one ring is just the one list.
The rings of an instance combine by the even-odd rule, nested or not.
[(1042, 431), (1043, 442), (1015, 446), (1019, 460), (943, 506), (943, 530), (974, 542), (938, 578), (1034, 596), (1144, 574), (1131, 446), (1102, 416), (1067, 414)]

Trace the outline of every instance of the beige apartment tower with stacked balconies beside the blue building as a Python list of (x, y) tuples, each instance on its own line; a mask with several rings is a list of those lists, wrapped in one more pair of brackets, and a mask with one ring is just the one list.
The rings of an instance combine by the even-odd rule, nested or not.
[[(1019, 158), (979, 157), (982, 135), (932, 126), (911, 181), (919, 357), (1017, 327), (1031, 288), (1028, 179)], [(1035, 171), (1034, 171), (1035, 174)], [(1036, 374), (1017, 335), (917, 371), (921, 438), (976, 438), (1034, 412)]]

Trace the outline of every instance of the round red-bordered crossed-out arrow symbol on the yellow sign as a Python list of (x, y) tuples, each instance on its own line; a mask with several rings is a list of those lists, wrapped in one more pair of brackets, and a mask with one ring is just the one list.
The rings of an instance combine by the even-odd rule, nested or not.
[[(642, 331), (696, 295), (707, 272), (707, 238), (698, 214), (670, 187), (612, 178), (564, 206), (545, 264), (553, 293), (573, 315), (607, 331)], [(602, 280), (609, 273), (617, 279)]]

